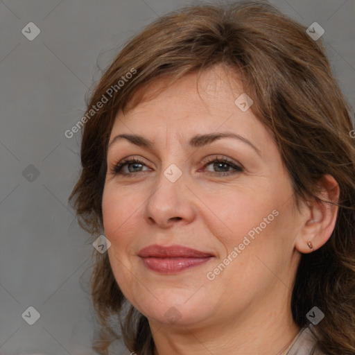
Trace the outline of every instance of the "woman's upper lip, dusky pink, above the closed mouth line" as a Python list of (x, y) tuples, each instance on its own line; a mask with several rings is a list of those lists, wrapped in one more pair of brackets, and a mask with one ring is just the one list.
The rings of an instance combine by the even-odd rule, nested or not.
[(148, 247), (139, 250), (139, 257), (148, 258), (205, 258), (213, 257), (213, 254), (201, 252), (200, 250), (187, 248), (182, 245), (163, 246), (158, 244), (148, 245)]

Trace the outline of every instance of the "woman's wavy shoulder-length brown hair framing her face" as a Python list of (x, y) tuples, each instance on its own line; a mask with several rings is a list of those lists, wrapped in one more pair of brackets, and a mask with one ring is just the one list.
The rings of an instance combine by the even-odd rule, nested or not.
[[(296, 202), (317, 197), (325, 174), (339, 184), (338, 216), (322, 248), (302, 254), (291, 300), (295, 323), (317, 305), (324, 319), (314, 328), (318, 347), (329, 355), (355, 354), (355, 147), (351, 107), (331, 74), (321, 40), (266, 1), (200, 4), (171, 12), (133, 37), (96, 86), (87, 107), (110, 100), (87, 119), (81, 146), (82, 173), (69, 200), (80, 225), (91, 234), (103, 228), (101, 201), (107, 144), (116, 113), (137, 105), (154, 80), (169, 83), (187, 73), (225, 64), (243, 79), (254, 100), (252, 112), (270, 128), (291, 174)], [(131, 70), (132, 69), (132, 70)], [(135, 75), (117, 87), (122, 76)], [(138, 90), (141, 89), (141, 90)], [(111, 89), (112, 91), (112, 89)], [(130, 306), (114, 279), (107, 253), (95, 251), (92, 300), (101, 323), (94, 349), (108, 354), (121, 325), (125, 345), (153, 354), (147, 318)], [(127, 312), (125, 312), (127, 311)], [(123, 318), (123, 313), (127, 313)]]

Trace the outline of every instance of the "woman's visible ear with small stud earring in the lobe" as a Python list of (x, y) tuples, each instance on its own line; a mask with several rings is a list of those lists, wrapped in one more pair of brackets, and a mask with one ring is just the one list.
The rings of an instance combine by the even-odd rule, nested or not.
[[(340, 189), (338, 182), (331, 175), (324, 175), (320, 182), (318, 198), (338, 203)], [(302, 226), (297, 236), (295, 248), (304, 254), (313, 252), (324, 245), (331, 236), (336, 225), (338, 206), (313, 199), (305, 207), (302, 214)], [(309, 248), (308, 242), (313, 248)]]

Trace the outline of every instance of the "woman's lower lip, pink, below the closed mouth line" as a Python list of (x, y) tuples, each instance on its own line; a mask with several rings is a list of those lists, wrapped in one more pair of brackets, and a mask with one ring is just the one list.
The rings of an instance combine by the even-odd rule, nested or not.
[(205, 258), (141, 258), (146, 268), (161, 274), (173, 274), (194, 268), (206, 263), (211, 257)]

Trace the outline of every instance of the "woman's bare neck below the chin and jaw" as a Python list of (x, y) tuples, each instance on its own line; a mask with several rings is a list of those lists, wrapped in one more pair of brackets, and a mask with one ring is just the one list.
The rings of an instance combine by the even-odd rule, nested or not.
[(287, 312), (289, 309), (282, 304), (275, 311), (266, 311), (263, 304), (252, 314), (244, 311), (239, 316), (230, 314), (219, 322), (179, 327), (149, 320), (154, 355), (285, 355), (300, 331), (291, 311)]

